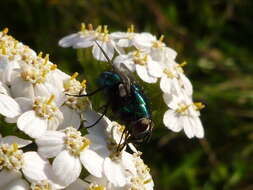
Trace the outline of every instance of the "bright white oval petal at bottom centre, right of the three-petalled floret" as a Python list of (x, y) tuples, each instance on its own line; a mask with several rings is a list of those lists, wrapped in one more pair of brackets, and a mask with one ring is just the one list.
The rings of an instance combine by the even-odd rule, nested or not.
[(126, 184), (124, 170), (121, 165), (113, 162), (110, 158), (106, 158), (104, 161), (104, 174), (115, 186), (122, 187)]

